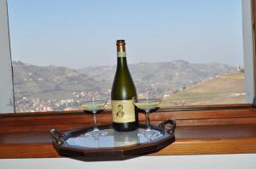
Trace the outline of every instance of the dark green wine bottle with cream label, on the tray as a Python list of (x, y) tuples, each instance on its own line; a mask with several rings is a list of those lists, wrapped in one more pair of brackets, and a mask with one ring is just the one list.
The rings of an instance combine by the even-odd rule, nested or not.
[(138, 127), (137, 108), (133, 104), (137, 92), (126, 61), (125, 40), (118, 40), (116, 45), (117, 69), (111, 91), (113, 128), (129, 132)]

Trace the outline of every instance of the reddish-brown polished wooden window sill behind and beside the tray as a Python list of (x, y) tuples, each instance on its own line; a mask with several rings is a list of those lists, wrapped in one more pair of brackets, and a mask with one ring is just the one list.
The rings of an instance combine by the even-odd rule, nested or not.
[[(101, 124), (110, 112), (99, 115)], [(59, 157), (49, 129), (69, 130), (89, 126), (88, 115), (0, 116), (0, 158)], [(152, 155), (218, 155), (256, 153), (256, 110), (198, 110), (152, 114), (154, 124), (177, 120), (176, 141)], [(143, 116), (140, 115), (143, 121)], [(7, 132), (6, 132), (7, 131)]]

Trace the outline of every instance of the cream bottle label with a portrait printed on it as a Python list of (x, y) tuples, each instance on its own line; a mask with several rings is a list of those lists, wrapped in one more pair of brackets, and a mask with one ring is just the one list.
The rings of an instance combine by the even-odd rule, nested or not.
[(133, 99), (112, 100), (111, 104), (113, 122), (123, 123), (136, 121)]

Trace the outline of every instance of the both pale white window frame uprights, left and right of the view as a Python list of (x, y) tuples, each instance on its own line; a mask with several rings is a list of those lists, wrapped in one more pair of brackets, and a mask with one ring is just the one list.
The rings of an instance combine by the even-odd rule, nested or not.
[[(244, 68), (246, 76), (247, 103), (253, 103), (254, 67), (253, 67), (253, 17), (252, 1), (241, 0), (242, 33), (244, 47)], [(15, 112), (13, 70), (9, 39), (9, 20), (7, 0), (0, 0), (0, 113)]]

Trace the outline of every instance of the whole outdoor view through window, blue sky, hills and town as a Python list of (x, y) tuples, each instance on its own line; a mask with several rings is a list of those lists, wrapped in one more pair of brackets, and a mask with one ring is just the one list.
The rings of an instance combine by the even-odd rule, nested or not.
[(16, 112), (110, 99), (125, 39), (138, 97), (246, 103), (241, 0), (9, 0)]

